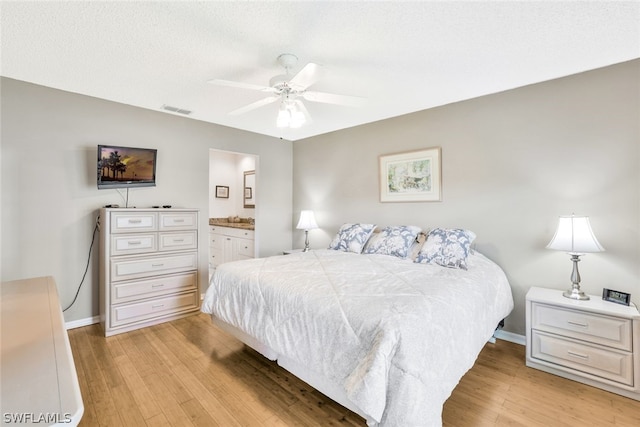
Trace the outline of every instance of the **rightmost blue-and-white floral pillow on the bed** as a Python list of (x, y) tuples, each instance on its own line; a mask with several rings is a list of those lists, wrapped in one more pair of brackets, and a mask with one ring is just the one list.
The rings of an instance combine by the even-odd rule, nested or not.
[(467, 257), (476, 235), (462, 228), (434, 228), (418, 252), (415, 262), (467, 269)]

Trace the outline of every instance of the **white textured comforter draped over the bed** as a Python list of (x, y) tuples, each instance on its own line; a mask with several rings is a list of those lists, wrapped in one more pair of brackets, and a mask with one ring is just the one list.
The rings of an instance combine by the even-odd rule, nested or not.
[(513, 308), (504, 272), (317, 250), (219, 266), (202, 311), (331, 381), (383, 426), (441, 425), (442, 405)]

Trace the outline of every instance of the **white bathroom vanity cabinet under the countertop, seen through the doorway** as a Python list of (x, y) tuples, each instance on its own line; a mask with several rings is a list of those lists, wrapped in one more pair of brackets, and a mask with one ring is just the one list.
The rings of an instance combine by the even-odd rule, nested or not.
[(215, 268), (229, 261), (254, 258), (254, 231), (209, 226), (209, 264)]

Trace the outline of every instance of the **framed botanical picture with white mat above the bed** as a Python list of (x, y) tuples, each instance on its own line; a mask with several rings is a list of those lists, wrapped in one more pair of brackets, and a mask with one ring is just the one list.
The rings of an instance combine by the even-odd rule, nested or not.
[(440, 147), (380, 156), (380, 201), (442, 200), (440, 157)]

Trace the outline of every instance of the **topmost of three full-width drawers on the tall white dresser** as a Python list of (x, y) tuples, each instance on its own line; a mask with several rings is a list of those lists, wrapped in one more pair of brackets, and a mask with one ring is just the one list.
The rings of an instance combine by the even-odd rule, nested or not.
[(112, 260), (111, 277), (113, 281), (121, 281), (195, 270), (198, 266), (197, 255), (196, 252), (191, 252), (166, 257)]

